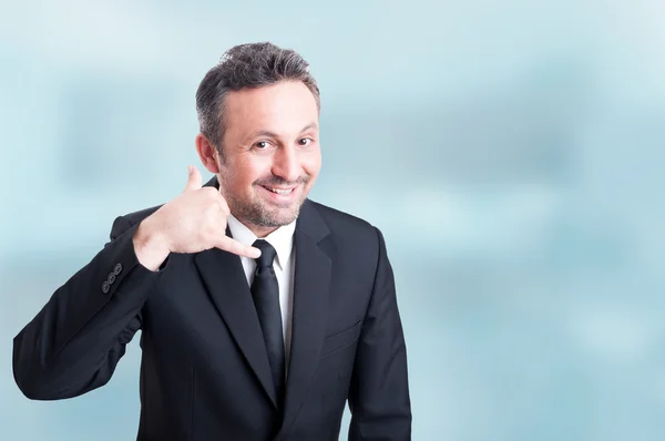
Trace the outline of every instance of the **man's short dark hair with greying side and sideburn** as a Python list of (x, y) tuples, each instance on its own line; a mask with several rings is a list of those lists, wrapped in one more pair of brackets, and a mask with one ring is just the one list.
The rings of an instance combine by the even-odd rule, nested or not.
[(319, 89), (309, 73), (309, 63), (291, 49), (269, 42), (231, 48), (211, 69), (196, 91), (196, 113), (201, 133), (222, 155), (226, 130), (224, 99), (229, 91), (255, 89), (282, 81), (301, 81), (314, 94), (320, 110)]

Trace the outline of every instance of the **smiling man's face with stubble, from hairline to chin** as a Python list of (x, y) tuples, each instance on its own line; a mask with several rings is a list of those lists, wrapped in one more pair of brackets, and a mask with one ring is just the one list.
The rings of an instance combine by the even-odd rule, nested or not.
[(231, 92), (225, 123), (218, 180), (232, 214), (264, 234), (295, 221), (321, 166), (309, 89), (282, 82)]

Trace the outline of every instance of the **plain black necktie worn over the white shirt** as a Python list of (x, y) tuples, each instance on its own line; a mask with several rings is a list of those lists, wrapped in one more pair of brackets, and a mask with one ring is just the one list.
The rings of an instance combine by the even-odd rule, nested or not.
[(266, 240), (258, 239), (254, 247), (260, 249), (260, 256), (256, 259), (256, 270), (252, 283), (252, 297), (256, 306), (256, 314), (260, 322), (273, 383), (277, 392), (277, 402), (282, 403), (284, 398), (284, 336), (282, 335), (282, 309), (279, 308), (279, 285), (273, 269), (275, 248)]

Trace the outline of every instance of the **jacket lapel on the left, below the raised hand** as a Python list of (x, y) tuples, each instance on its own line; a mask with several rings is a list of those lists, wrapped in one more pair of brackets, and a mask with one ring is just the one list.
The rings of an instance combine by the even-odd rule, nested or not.
[[(217, 187), (216, 177), (205, 186)], [(231, 236), (228, 227), (226, 235)], [(222, 249), (212, 248), (194, 256), (198, 273), (228, 330), (254, 370), (264, 390), (277, 407), (275, 387), (260, 324), (247, 285), (241, 258)]]

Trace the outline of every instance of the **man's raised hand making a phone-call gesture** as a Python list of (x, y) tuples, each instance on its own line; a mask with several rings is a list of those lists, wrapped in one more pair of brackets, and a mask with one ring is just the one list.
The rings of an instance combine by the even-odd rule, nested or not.
[(134, 234), (139, 261), (156, 270), (170, 253), (200, 253), (211, 248), (256, 258), (260, 250), (226, 236), (231, 211), (215, 187), (202, 188), (201, 173), (187, 167), (182, 194), (147, 216)]

